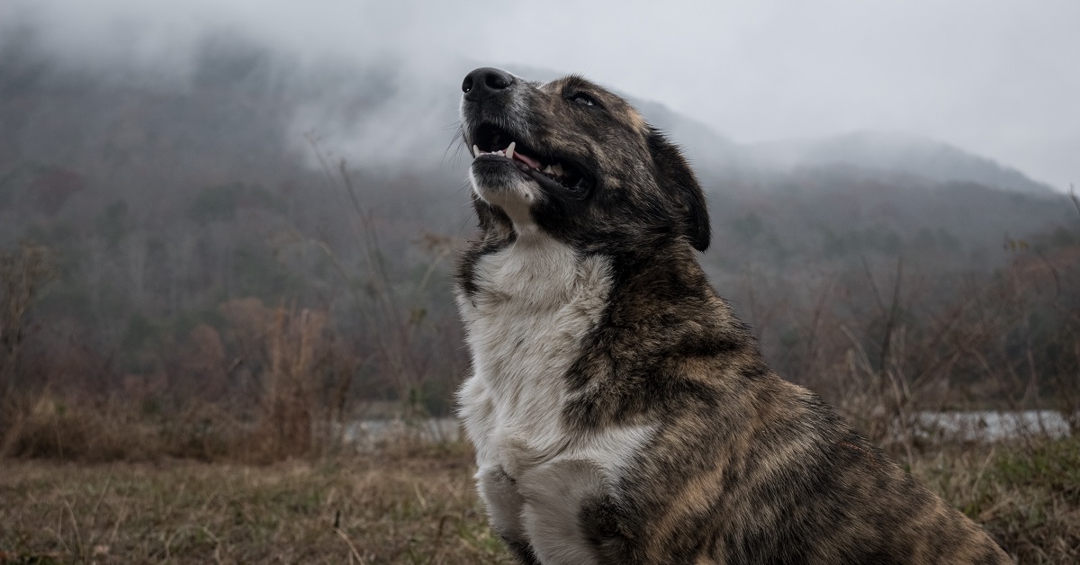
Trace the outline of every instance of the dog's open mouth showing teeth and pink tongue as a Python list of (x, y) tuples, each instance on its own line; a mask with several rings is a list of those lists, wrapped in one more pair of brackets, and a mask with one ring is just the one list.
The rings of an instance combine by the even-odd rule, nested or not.
[(593, 187), (592, 177), (581, 165), (524, 146), (496, 125), (481, 125), (473, 133), (472, 139), (474, 162), (508, 160), (540, 186), (573, 194), (584, 194)]

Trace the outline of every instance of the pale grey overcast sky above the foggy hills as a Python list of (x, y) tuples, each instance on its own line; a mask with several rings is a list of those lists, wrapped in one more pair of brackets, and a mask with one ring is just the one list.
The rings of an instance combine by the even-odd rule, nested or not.
[(0, 33), (27, 17), (87, 65), (183, 71), (201, 33), (235, 30), (448, 90), (464, 58), (580, 72), (737, 142), (889, 130), (1080, 184), (1077, 0), (0, 0)]

